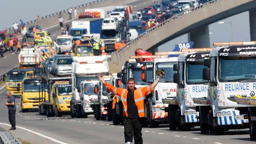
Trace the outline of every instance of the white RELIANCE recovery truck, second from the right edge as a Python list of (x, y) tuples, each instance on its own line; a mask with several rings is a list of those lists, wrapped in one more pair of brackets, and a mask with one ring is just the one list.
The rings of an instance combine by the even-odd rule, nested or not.
[[(190, 49), (187, 49), (190, 50)], [(194, 51), (202, 49), (194, 49)], [(190, 50), (191, 51), (191, 50)], [(178, 57), (178, 63), (173, 65), (174, 83), (177, 83), (176, 98), (162, 99), (168, 103), (168, 119), (170, 130), (182, 129), (190, 131), (194, 126), (199, 126), (199, 106), (193, 98), (206, 97), (208, 82), (203, 80), (202, 71), (204, 59), (209, 59), (210, 52), (183, 53)], [(200, 73), (201, 72), (201, 73)]]

